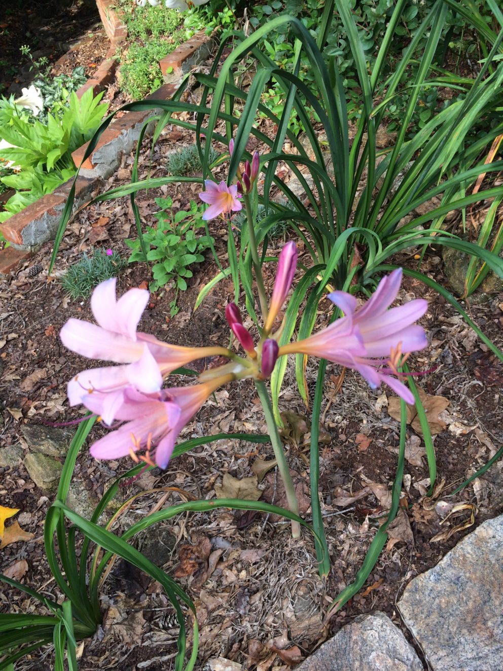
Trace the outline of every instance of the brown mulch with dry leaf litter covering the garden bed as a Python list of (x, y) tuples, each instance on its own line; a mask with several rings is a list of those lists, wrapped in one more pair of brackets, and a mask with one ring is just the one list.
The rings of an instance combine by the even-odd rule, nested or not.
[[(146, 146), (142, 152), (140, 179), (145, 178), (149, 170), (152, 176), (166, 174), (164, 166), (168, 152), (192, 140), (187, 132), (167, 127), (154, 148), (153, 167), (150, 148)], [(131, 162), (131, 156), (125, 158), (117, 175), (108, 180), (103, 189), (127, 183)], [(225, 166), (222, 169), (225, 170)], [(190, 199), (197, 199), (199, 190), (199, 185), (175, 183), (139, 193), (137, 204), (142, 221), (145, 224), (156, 221), (154, 197), (170, 195), (174, 208), (185, 209)], [(227, 265), (227, 229), (219, 221), (211, 221), (210, 232), (215, 238), (219, 258)], [(56, 280), (48, 281), (51, 245), (47, 244), (36, 258), (0, 285), (0, 341), (5, 340), (0, 349), (2, 446), (21, 444), (27, 449), (20, 431), (21, 423), (68, 421), (79, 417), (80, 411), (69, 409), (66, 404), (65, 385), (79, 370), (89, 366), (89, 361), (68, 352), (62, 346), (58, 332), (69, 317), (92, 317), (89, 301), (70, 301), (57, 277), (76, 262), (82, 252), (99, 246), (128, 254), (124, 240), (133, 236), (135, 223), (127, 198), (95, 203), (82, 209), (68, 227), (56, 262)], [(270, 254), (277, 254), (281, 246), (281, 240), (272, 241)], [(395, 260), (405, 266), (412, 262), (410, 256)], [(309, 262), (307, 255), (302, 255), (302, 261)], [(44, 271), (30, 279), (28, 272), (36, 263), (42, 264)], [(425, 258), (423, 271), (444, 285), (447, 282), (435, 250)], [(224, 311), (226, 303), (233, 297), (231, 281), (220, 282), (203, 305), (193, 311), (201, 287), (216, 273), (217, 267), (210, 256), (194, 269), (188, 290), (178, 297), (180, 311), (174, 317), (170, 317), (169, 309), (174, 292), (171, 289), (158, 291), (152, 296), (139, 328), (174, 344), (199, 346), (213, 342), (227, 345), (229, 335)], [(118, 293), (149, 279), (150, 272), (144, 264), (133, 264), (119, 278)], [(271, 264), (266, 269), (269, 288), (273, 281), (274, 266)], [(309, 533), (304, 533), (301, 541), (294, 542), (288, 525), (272, 521), (266, 515), (243, 517), (233, 511), (219, 510), (211, 514), (180, 516), (167, 525), (174, 538), (174, 549), (164, 569), (170, 575), (179, 576), (177, 580), (188, 590), (197, 607), (201, 627), (197, 665), (200, 671), (206, 660), (217, 656), (235, 660), (247, 669), (256, 668), (259, 662), (264, 669), (273, 663), (282, 664), (273, 648), (288, 650), (296, 645), (305, 656), (325, 636), (356, 615), (376, 609), (388, 613), (400, 625), (395, 603), (407, 582), (435, 566), (463, 535), (474, 528), (454, 531), (449, 538), (435, 540), (439, 533), (453, 531), (457, 524), (469, 517), (467, 513), (465, 517), (441, 524), (449, 507), (461, 502), (476, 505), (476, 525), (502, 511), (501, 464), (495, 464), (455, 497), (450, 496), (458, 484), (488, 461), (503, 440), (503, 411), (499, 400), (502, 364), (474, 337), (471, 329), (443, 298), (416, 280), (405, 278), (399, 300), (418, 296), (429, 300), (429, 311), (422, 323), (427, 329), (430, 345), (411, 358), (410, 368), (417, 372), (431, 371), (416, 379), (427, 396), (434, 399), (429, 400), (431, 407), (438, 397), (444, 397), (449, 403), (439, 417), (431, 418), (431, 421), (440, 423), (435, 450), (437, 482), (443, 484), (437, 487), (433, 499), (425, 496), (427, 462), (425, 456), (421, 456), (421, 450), (414, 454), (414, 437), (421, 444), (421, 433), (416, 425), (412, 425), (408, 431), (410, 461), (406, 462), (405, 468), (400, 525), (396, 526), (394, 536), (364, 589), (331, 619), (329, 630), (324, 630), (322, 618), (331, 599), (355, 577), (379, 519), (386, 514), (390, 485), (396, 471), (399, 432), (398, 422), (388, 413), (392, 403), (392, 393), (388, 389), (371, 391), (351, 371), (345, 372), (338, 389), (341, 370), (329, 365), (322, 403), (320, 446), (320, 491), (332, 567), (327, 580), (321, 580), (317, 575), (313, 539)], [(502, 297), (490, 296), (481, 303), (472, 299), (467, 309), (471, 318), (501, 348)], [(323, 301), (317, 327), (325, 325), (328, 319), (329, 305)], [(202, 365), (209, 363), (202, 362)], [(45, 371), (42, 375), (41, 370)], [(317, 362), (309, 360), (306, 380), (311, 401), (316, 379)], [(181, 378), (175, 381), (175, 384), (182, 383)], [(287, 426), (285, 444), (304, 515), (310, 521), (309, 411), (296, 389), (292, 364), (288, 367), (280, 407), (293, 413), (289, 416), (290, 428)], [(305, 423), (302, 422), (304, 416)], [(100, 431), (99, 427), (93, 429), (91, 440), (95, 440)], [(215, 399), (211, 399), (184, 429), (182, 438), (220, 431), (266, 433), (254, 386), (249, 380), (218, 391)], [(221, 484), (223, 474), (235, 478), (251, 476), (256, 457), (272, 458), (272, 448), (267, 444), (254, 446), (236, 440), (207, 444), (174, 460), (165, 472), (154, 470), (129, 484), (124, 498), (152, 487), (166, 486), (176, 486), (198, 499), (213, 498), (215, 484)], [(98, 499), (111, 478), (125, 472), (129, 466), (127, 459), (97, 462), (84, 450), (78, 457), (74, 480)], [(33, 540), (3, 550), (0, 571), (21, 557), (26, 558), (29, 571), (23, 581), (34, 588), (44, 585), (46, 592), (54, 593), (54, 583), (47, 583), (47, 566), (40, 541), (44, 515), (52, 497), (38, 490), (22, 464), (15, 470), (0, 469), (0, 482), (1, 505), (21, 508), (21, 526), (34, 533)], [(274, 470), (259, 487), (264, 489), (264, 499), (284, 505)], [(127, 527), (139, 516), (152, 511), (164, 494), (146, 494), (137, 500), (123, 526)], [(164, 505), (179, 501), (180, 497), (172, 493)], [(156, 533), (158, 531), (152, 531), (152, 534)], [(186, 562), (187, 556), (195, 557), (194, 566), (197, 566), (192, 573)], [(211, 556), (213, 564), (209, 559)], [(85, 641), (80, 668), (84, 671), (98, 666), (148, 668), (150, 671), (170, 668), (175, 651), (176, 623), (160, 587), (150, 584), (131, 566), (117, 562), (103, 588), (103, 595), (104, 637)], [(2, 612), (11, 608), (26, 612), (29, 607), (15, 590), (4, 590), (0, 596)], [(123, 613), (122, 628), (111, 617), (111, 613), (117, 611)], [(36, 656), (28, 664), (33, 664), (35, 659)], [(269, 666), (264, 660), (270, 662)], [(143, 666), (137, 666), (140, 663)], [(52, 668), (50, 650), (37, 664), (42, 671)]]

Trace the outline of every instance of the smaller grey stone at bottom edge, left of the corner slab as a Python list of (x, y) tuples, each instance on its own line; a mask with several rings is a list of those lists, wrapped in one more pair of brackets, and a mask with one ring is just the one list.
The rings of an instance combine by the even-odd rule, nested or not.
[(423, 671), (414, 648), (380, 611), (357, 617), (296, 671)]

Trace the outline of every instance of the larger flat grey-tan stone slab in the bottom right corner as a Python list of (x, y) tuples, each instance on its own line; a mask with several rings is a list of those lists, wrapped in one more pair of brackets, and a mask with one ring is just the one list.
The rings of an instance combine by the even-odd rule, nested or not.
[(503, 515), (414, 578), (398, 607), (435, 671), (501, 671)]

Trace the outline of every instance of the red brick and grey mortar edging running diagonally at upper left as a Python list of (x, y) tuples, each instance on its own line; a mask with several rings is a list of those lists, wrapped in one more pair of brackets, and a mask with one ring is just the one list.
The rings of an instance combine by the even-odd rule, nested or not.
[[(111, 0), (99, 0), (104, 7), (108, 7), (109, 1), (111, 3)], [(107, 30), (106, 26), (105, 30)], [(207, 58), (212, 46), (213, 36), (208, 37), (205, 34), (197, 34), (185, 44), (180, 45), (172, 54), (169, 54), (170, 64), (164, 67), (164, 71), (168, 67), (174, 70), (168, 78), (179, 81), (184, 72)], [(114, 51), (114, 48), (109, 50), (93, 79), (89, 79), (83, 87), (80, 87), (77, 95), (82, 95), (91, 87), (96, 92), (111, 81), (117, 67), (116, 61), (111, 58)], [(174, 81), (162, 85), (160, 89), (148, 96), (148, 99), (166, 100), (172, 97), (177, 87)], [(156, 109), (145, 112), (126, 112), (122, 117), (113, 119), (101, 135), (91, 156), (80, 167), (76, 180), (74, 207), (80, 207), (89, 201), (93, 191), (99, 188), (101, 180), (115, 172), (122, 156), (129, 154), (137, 142), (146, 119), (158, 112), (159, 110)], [(86, 148), (87, 144), (72, 154), (77, 166), (82, 163)], [(0, 225), (0, 231), (11, 243), (10, 247), (0, 251), (0, 274), (12, 272), (19, 262), (29, 258), (30, 254), (40, 249), (42, 244), (54, 240), (72, 183), (73, 178)]]

